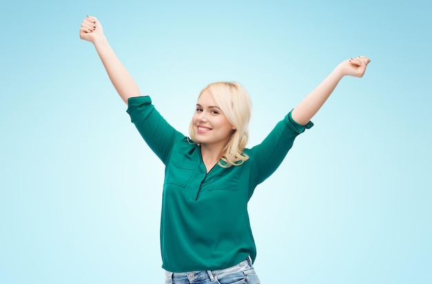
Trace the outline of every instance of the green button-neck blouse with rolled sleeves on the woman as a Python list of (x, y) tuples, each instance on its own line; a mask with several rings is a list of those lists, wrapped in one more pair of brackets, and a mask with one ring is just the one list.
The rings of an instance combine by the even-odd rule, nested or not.
[(177, 132), (155, 110), (150, 97), (128, 99), (128, 114), (150, 148), (164, 162), (161, 212), (162, 267), (170, 272), (220, 270), (251, 256), (256, 247), (247, 205), (255, 187), (282, 162), (295, 137), (311, 128), (291, 118), (277, 123), (266, 139), (244, 153), (242, 165), (206, 173), (199, 145)]

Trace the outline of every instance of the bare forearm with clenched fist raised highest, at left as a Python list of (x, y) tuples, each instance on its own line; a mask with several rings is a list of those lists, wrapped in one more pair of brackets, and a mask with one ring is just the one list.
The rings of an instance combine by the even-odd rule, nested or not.
[(126, 104), (128, 98), (141, 96), (137, 83), (115, 55), (105, 37), (101, 23), (95, 17), (87, 16), (82, 21), (79, 37), (95, 45), (112, 85)]

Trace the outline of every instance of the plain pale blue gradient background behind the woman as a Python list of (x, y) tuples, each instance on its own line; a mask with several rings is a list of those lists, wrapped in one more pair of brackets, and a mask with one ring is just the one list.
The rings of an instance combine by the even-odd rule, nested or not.
[[(238, 81), (251, 139), (349, 57), (315, 126), (249, 205), (262, 283), (432, 283), (427, 1), (3, 1), (0, 283), (163, 283), (164, 168), (130, 123), (86, 14), (175, 128)], [(221, 209), (223, 210), (223, 208)]]

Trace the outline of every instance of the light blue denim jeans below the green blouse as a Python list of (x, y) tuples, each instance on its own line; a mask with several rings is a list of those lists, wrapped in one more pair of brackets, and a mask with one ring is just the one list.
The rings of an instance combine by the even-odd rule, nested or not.
[(224, 270), (165, 272), (165, 284), (259, 284), (250, 258)]

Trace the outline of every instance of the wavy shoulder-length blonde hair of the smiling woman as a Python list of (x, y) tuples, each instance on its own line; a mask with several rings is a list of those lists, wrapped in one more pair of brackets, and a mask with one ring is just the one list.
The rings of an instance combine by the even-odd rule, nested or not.
[[(199, 93), (198, 99), (206, 90), (210, 92), (217, 106), (224, 112), (226, 119), (235, 128), (221, 153), (221, 160), (224, 163), (219, 161), (219, 165), (224, 168), (229, 168), (231, 165), (242, 165), (244, 161), (249, 159), (249, 156), (244, 154), (243, 151), (249, 138), (248, 128), (252, 110), (251, 97), (249, 97), (248, 92), (242, 85), (235, 82), (211, 83)], [(189, 126), (189, 134), (190, 139), (199, 144), (192, 122)]]

